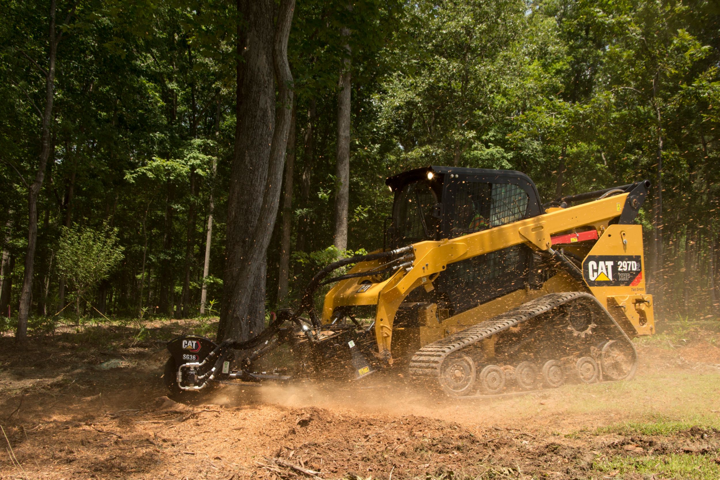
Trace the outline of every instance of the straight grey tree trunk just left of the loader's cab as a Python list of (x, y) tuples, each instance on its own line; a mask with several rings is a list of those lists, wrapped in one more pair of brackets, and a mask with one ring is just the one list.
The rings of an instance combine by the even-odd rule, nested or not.
[[(343, 37), (350, 30), (343, 27)], [(343, 59), (343, 70), (338, 81), (338, 145), (335, 164), (335, 246), (340, 250), (348, 248), (348, 204), (350, 197), (350, 46), (345, 45), (348, 58)]]

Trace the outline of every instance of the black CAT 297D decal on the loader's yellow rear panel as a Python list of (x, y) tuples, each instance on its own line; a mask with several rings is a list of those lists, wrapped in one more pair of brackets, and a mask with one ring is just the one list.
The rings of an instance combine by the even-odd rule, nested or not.
[(640, 255), (588, 255), (582, 276), (589, 286), (632, 286), (642, 280)]

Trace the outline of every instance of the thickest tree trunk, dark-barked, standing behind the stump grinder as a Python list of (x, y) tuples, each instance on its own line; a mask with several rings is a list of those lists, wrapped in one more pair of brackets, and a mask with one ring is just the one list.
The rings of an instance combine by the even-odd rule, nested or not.
[(238, 54), (243, 58), (238, 59), (238, 123), (218, 340), (247, 340), (264, 325), (266, 253), (279, 207), (292, 116), (287, 39), (294, 3), (281, 1), (274, 25), (274, 1), (238, 2), (245, 30), (238, 29)]

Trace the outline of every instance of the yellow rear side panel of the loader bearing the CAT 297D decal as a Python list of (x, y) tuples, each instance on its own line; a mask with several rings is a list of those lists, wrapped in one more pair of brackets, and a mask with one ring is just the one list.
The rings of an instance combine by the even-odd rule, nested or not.
[(641, 225), (608, 226), (582, 261), (582, 276), (628, 335), (654, 333)]

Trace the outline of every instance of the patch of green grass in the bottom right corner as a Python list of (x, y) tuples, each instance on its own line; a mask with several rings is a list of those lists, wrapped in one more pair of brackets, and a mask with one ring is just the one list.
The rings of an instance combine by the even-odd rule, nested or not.
[(670, 455), (624, 456), (601, 458), (593, 463), (593, 468), (603, 473), (617, 471), (618, 477), (625, 474), (656, 474), (668, 479), (720, 479), (720, 464), (716, 463), (717, 453), (708, 455)]

